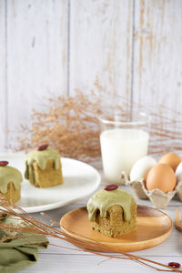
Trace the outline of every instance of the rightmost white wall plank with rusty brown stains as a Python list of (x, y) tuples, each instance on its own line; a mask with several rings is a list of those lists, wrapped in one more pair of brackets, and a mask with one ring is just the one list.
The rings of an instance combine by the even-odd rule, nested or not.
[(135, 2), (133, 100), (182, 113), (182, 1)]

